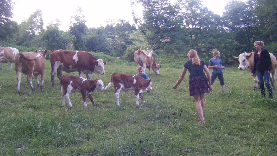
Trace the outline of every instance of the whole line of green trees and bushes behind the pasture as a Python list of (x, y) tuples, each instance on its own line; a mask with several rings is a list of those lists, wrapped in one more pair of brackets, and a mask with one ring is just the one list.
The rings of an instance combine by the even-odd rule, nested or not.
[[(143, 16), (133, 10), (134, 24), (119, 19), (106, 26), (89, 28), (80, 7), (71, 17), (67, 31), (60, 21), (43, 29), (42, 11), (38, 9), (20, 24), (11, 21), (14, 3), (0, 2), (0, 43), (49, 50), (71, 49), (126, 55), (128, 47), (146, 46), (157, 53), (184, 55), (189, 49), (208, 59), (214, 49), (229, 61), (242, 52), (254, 50), (254, 41), (264, 41), (277, 54), (277, 0), (229, 1), (223, 15), (214, 14), (200, 0), (131, 0), (143, 6)], [(135, 32), (135, 33), (134, 33)], [(136, 35), (134, 35), (136, 34)], [(148, 50), (148, 49), (145, 49)]]

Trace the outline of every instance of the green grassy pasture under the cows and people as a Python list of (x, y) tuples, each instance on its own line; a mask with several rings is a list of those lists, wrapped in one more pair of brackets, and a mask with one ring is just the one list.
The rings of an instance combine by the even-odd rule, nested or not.
[[(113, 72), (137, 73), (134, 63), (103, 60), (106, 74), (91, 77), (105, 86)], [(22, 75), (21, 94), (17, 94), (14, 65), (9, 70), (9, 64), (1, 63), (0, 155), (277, 155), (277, 102), (262, 100), (260, 92), (253, 91), (249, 71), (226, 66), (225, 94), (217, 79), (214, 91), (205, 95), (206, 124), (202, 125), (189, 97), (189, 73), (174, 90), (182, 69), (162, 66), (160, 75), (150, 76), (153, 90), (144, 94), (145, 105), (140, 100), (137, 108), (129, 91), (120, 93), (118, 108), (111, 87), (94, 92), (99, 105), (88, 101), (87, 109), (81, 94), (72, 94), (70, 110), (67, 102), (61, 107), (57, 77), (51, 87), (49, 60), (45, 89), (34, 85), (32, 91)], [(36, 84), (34, 77), (32, 82)], [(273, 95), (277, 97), (275, 90)]]

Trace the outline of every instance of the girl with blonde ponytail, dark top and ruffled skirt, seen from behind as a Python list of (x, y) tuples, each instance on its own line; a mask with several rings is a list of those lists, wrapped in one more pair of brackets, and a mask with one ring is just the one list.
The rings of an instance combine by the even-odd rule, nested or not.
[[(187, 69), (189, 70), (189, 96), (193, 96), (197, 112), (200, 116), (200, 123), (205, 124), (204, 119), (204, 107), (205, 100), (204, 95), (208, 93), (209, 90), (212, 91), (211, 74), (209, 69), (203, 61), (201, 61), (197, 55), (196, 50), (191, 49), (187, 55), (189, 61), (185, 63), (183, 72), (179, 77), (173, 89), (177, 89), (178, 85), (184, 79)], [(207, 77), (204, 71), (207, 73)], [(209, 82), (209, 83), (208, 83)], [(209, 90), (208, 90), (209, 89)]]

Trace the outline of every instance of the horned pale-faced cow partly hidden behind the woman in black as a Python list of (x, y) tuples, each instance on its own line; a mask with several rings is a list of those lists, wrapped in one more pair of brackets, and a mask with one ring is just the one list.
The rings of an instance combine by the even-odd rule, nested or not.
[[(271, 86), (273, 89), (275, 89), (275, 74), (276, 74), (276, 57), (270, 52), (270, 58), (271, 58), (271, 73), (270, 73), (270, 81), (271, 81)], [(233, 56), (234, 57), (234, 56)], [(250, 73), (252, 72), (253, 66), (254, 66), (254, 52), (251, 53), (242, 53), (238, 57), (234, 57), (235, 59), (238, 59), (240, 62), (240, 65), (238, 69), (240, 71), (249, 68)], [(253, 77), (255, 85), (253, 87), (253, 90), (257, 90), (257, 84), (259, 83), (258, 77), (257, 77), (257, 72), (254, 73)]]

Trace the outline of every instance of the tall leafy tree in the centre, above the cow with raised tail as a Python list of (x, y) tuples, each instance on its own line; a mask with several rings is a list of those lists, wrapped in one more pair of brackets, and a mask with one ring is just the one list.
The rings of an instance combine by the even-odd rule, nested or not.
[(143, 17), (138, 18), (133, 11), (135, 24), (145, 35), (152, 49), (160, 49), (171, 40), (171, 33), (176, 33), (183, 19), (179, 15), (179, 8), (172, 6), (168, 0), (134, 0), (142, 4)]

